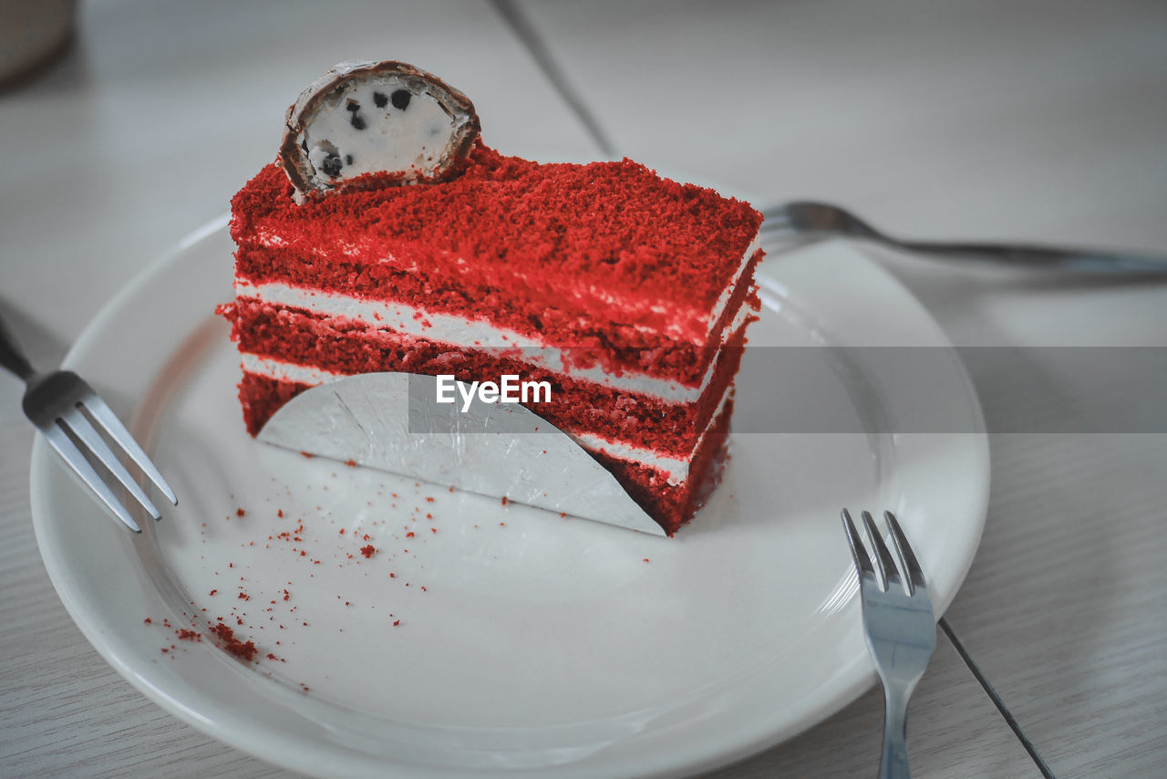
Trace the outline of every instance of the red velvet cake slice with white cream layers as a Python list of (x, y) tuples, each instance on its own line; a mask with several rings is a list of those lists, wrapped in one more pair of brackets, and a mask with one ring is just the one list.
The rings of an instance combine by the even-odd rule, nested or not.
[[(349, 83), (347, 105), (393, 86)], [(342, 157), (349, 141), (326, 142)], [(292, 147), (301, 167), (331, 159)], [(761, 215), (627, 159), (537, 164), (477, 140), (450, 159), (436, 176), (337, 175), (328, 192), (302, 192), (285, 158), (235, 196), (228, 315), (247, 430), (306, 388), (359, 373), (546, 381), (550, 401), (527, 408), (676, 531), (724, 459), (756, 319)]]

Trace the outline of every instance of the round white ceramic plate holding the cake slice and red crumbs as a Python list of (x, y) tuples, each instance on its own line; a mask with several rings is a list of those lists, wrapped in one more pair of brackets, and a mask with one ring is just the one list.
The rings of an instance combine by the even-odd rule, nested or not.
[[(760, 277), (754, 345), (945, 345), (843, 245), (768, 260)], [(735, 433), (712, 502), (658, 538), (257, 444), (211, 314), (231, 278), (219, 222), (107, 306), (67, 361), (133, 419), (180, 506), (133, 537), (37, 440), (33, 515), (57, 592), (105, 659), (272, 763), (328, 777), (710, 770), (874, 679), (840, 507), (897, 513), (941, 612), (972, 561), (987, 445), (955, 359), (929, 394), (957, 432)], [(840, 373), (836, 352), (804, 354), (836, 376), (816, 394), (859, 420), (878, 408), (894, 429), (920, 401), (861, 361)], [(798, 402), (770, 362), (747, 357), (743, 418)], [(254, 662), (207, 634), (219, 617), (254, 641)], [(203, 638), (177, 638), (190, 627)]]

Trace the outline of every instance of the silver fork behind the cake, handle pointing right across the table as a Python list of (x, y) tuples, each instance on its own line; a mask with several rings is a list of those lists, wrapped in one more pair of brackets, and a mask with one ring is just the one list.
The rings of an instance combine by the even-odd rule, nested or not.
[(762, 215), (766, 217), (762, 235), (769, 238), (866, 238), (894, 249), (955, 259), (976, 257), (1009, 265), (1086, 273), (1167, 273), (1167, 257), (1154, 255), (1030, 244), (904, 241), (876, 230), (851, 211), (830, 203), (796, 201), (764, 208)]

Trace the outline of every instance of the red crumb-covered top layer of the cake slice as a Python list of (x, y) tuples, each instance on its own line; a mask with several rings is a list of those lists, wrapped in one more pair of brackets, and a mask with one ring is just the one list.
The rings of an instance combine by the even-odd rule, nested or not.
[(748, 203), (628, 159), (540, 165), (484, 146), (445, 183), (303, 206), (291, 192), (270, 165), (235, 196), (240, 276), (529, 321), (544, 334), (584, 318), (579, 334), (595, 338), (623, 327), (704, 340), (762, 221)]

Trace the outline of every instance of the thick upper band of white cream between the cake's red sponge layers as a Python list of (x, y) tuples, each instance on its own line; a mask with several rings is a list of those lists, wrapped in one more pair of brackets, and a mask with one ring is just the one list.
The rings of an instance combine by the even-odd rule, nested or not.
[[(740, 273), (739, 273), (740, 278)], [(571, 348), (547, 346), (537, 339), (525, 336), (515, 331), (497, 327), (483, 321), (455, 317), (453, 314), (426, 313), (400, 302), (384, 300), (363, 300), (335, 292), (322, 292), (295, 287), (288, 284), (270, 283), (252, 284), (245, 279), (236, 279), (235, 292), (239, 297), (257, 298), (264, 302), (302, 308), (323, 317), (340, 317), (356, 320), (378, 329), (389, 329), (405, 335), (442, 341), (459, 347), (478, 349), (523, 349), (522, 357), (531, 364), (545, 368), (552, 373), (564, 374), (575, 380), (595, 382), (623, 392), (637, 392), (658, 398), (665, 403), (694, 403), (713, 381), (715, 361), (701, 377), (698, 387), (687, 387), (668, 378), (658, 378), (647, 374), (626, 371), (620, 376), (609, 374), (602, 366), (591, 368), (567, 367), (571, 362)], [(726, 300), (720, 304), (725, 311)], [(721, 313), (717, 317), (720, 318)], [(749, 317), (749, 307), (742, 305), (738, 315), (726, 328), (725, 338), (736, 333)], [(714, 319), (714, 321), (717, 321)], [(319, 382), (317, 382), (319, 383)]]

